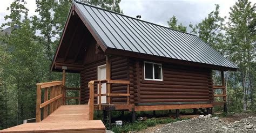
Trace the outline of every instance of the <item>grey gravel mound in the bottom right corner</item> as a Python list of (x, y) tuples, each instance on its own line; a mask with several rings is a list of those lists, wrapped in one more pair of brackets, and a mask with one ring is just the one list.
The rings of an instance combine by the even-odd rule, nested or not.
[(198, 118), (166, 124), (152, 132), (256, 132), (256, 117), (248, 116), (226, 123), (219, 117), (200, 115)]

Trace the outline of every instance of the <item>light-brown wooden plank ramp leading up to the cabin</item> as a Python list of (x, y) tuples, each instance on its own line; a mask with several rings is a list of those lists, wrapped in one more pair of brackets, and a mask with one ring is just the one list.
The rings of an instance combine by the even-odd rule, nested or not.
[(100, 120), (89, 120), (88, 105), (62, 105), (42, 122), (25, 123), (0, 132), (105, 132)]

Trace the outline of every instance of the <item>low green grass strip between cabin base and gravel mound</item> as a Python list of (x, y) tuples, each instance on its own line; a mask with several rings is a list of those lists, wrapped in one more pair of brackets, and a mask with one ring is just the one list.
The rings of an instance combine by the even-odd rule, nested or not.
[(184, 119), (147, 119), (146, 121), (135, 121), (133, 123), (127, 122), (123, 123), (122, 126), (113, 125), (113, 132), (129, 132), (129, 131), (139, 131), (146, 129), (147, 127), (154, 127), (158, 124), (167, 124), (171, 122), (176, 122)]

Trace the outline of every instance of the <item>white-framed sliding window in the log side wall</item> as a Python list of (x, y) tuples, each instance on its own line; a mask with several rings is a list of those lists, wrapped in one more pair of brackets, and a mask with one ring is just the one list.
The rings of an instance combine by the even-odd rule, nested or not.
[(152, 62), (144, 62), (144, 79), (163, 81), (162, 65)]

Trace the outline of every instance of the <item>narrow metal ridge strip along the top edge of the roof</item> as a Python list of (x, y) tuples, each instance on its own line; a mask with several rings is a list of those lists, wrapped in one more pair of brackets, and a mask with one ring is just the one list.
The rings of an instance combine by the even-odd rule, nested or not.
[(131, 17), (131, 16), (127, 16), (127, 15), (122, 14), (122, 13), (114, 12), (114, 11), (107, 10), (107, 9), (103, 9), (103, 8), (99, 8), (98, 6), (95, 6), (95, 5), (87, 4), (87, 3), (84, 3), (84, 2), (79, 2), (79, 1), (76, 1), (76, 0), (74, 0), (73, 2), (76, 2), (76, 3), (79, 3), (79, 4), (83, 4), (83, 5), (87, 5), (87, 6), (91, 6), (92, 8), (97, 8), (97, 9), (100, 9), (100, 10), (104, 10), (104, 11), (116, 13), (116, 14), (119, 14), (119, 15), (124, 16), (124, 17), (128, 17), (128, 18), (135, 19), (135, 20), (138, 20), (138, 21), (143, 21), (143, 22), (145, 22), (145, 23), (153, 24), (153, 25), (160, 26), (160, 27), (163, 27), (163, 28), (171, 29), (171, 30), (173, 30), (173, 31), (177, 31), (177, 32), (181, 32), (181, 33), (185, 33), (185, 34), (190, 34), (190, 35), (193, 35), (193, 36), (197, 36), (197, 35), (194, 35), (194, 34), (191, 34), (191, 33), (179, 31), (179, 30), (177, 30), (177, 29), (173, 29), (173, 28), (166, 27), (166, 26), (163, 26), (163, 25), (158, 25), (158, 24), (152, 23), (152, 22), (150, 22), (150, 21), (145, 21), (145, 20), (142, 20), (142, 19), (136, 19), (136, 18), (133, 18), (133, 17)]

